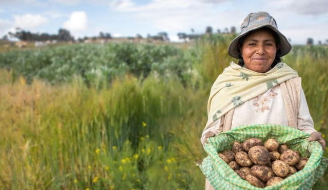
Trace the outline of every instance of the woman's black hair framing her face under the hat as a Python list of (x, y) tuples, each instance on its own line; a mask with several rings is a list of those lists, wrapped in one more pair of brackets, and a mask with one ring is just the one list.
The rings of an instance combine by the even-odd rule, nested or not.
[[(265, 30), (265, 31), (270, 32), (270, 33), (273, 35), (273, 37), (275, 38), (276, 46), (277, 46), (277, 47), (279, 46), (279, 37), (278, 37), (278, 34), (277, 34), (276, 32), (274, 32), (273, 30), (271, 30), (271, 29), (268, 28), (268, 27), (263, 27), (263, 28), (260, 28), (260, 29), (257, 29), (257, 30)], [(242, 59), (240, 49), (241, 49), (241, 47), (242, 47), (242, 44), (244, 43), (245, 38), (246, 38), (249, 34), (250, 34), (250, 33), (248, 33), (247, 35), (242, 36), (242, 37), (238, 40), (238, 45), (237, 45), (237, 47), (238, 47), (238, 51), (239, 51), (239, 55), (238, 55), (238, 57), (239, 57), (239, 58), (238, 58), (238, 59), (239, 59), (239, 61), (238, 61), (238, 65), (240, 65), (241, 67), (243, 67), (243, 66), (245, 65), (245, 63), (244, 63), (244, 60)], [(281, 62), (281, 59), (280, 59), (281, 56), (280, 56), (280, 55), (281, 55), (281, 52), (280, 52), (280, 49), (278, 49), (277, 52), (276, 52), (275, 59), (273, 60), (271, 66), (270, 66), (271, 68), (275, 67), (275, 66), (278, 64), (278, 62)]]

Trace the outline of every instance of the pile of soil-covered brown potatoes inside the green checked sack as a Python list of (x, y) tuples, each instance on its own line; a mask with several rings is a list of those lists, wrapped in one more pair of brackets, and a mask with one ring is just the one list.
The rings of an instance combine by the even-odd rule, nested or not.
[(219, 157), (244, 180), (264, 188), (302, 170), (309, 158), (279, 144), (276, 139), (250, 138), (243, 143), (233, 142), (231, 151), (218, 153)]

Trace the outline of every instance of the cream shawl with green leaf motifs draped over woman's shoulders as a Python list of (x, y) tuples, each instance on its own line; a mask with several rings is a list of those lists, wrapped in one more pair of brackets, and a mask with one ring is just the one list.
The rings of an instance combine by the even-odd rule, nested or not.
[(212, 86), (208, 101), (208, 122), (204, 130), (241, 103), (295, 77), (298, 77), (297, 72), (283, 62), (266, 73), (258, 73), (231, 62)]

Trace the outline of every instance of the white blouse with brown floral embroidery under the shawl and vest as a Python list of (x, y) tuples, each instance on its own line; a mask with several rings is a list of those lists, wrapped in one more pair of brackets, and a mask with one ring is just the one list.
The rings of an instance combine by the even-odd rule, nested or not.
[[(288, 118), (279, 85), (236, 107), (232, 118), (231, 129), (243, 124), (269, 123), (288, 125)], [(297, 125), (299, 130), (308, 134), (316, 131), (302, 88), (300, 91)], [(223, 119), (219, 118), (208, 129), (203, 131), (200, 139), (202, 144), (205, 141), (204, 134), (209, 131), (215, 134), (221, 133), (223, 131)]]

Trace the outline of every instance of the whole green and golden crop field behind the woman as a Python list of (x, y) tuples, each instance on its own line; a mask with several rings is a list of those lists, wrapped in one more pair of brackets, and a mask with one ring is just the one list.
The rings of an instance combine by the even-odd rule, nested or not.
[[(0, 189), (203, 189), (194, 161), (206, 156), (207, 100), (234, 60), (233, 37), (1, 53)], [(294, 46), (283, 57), (302, 77), (326, 141), (327, 58), (324, 46)]]

